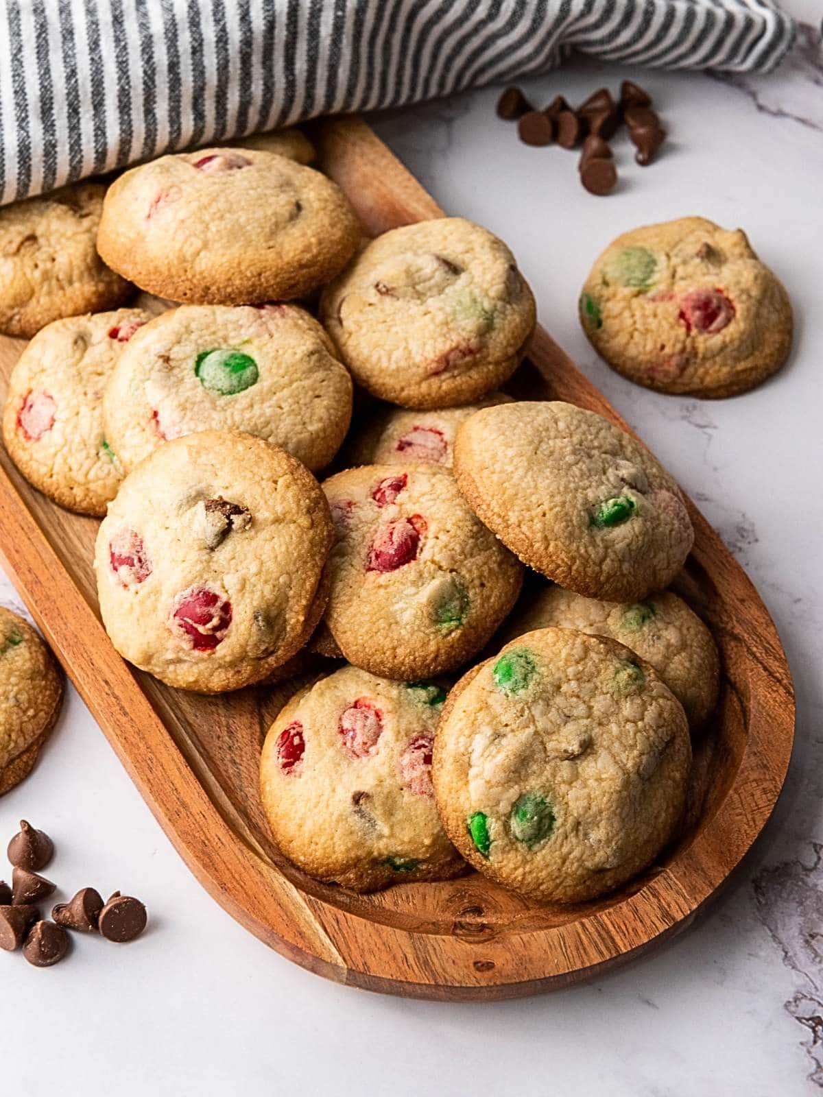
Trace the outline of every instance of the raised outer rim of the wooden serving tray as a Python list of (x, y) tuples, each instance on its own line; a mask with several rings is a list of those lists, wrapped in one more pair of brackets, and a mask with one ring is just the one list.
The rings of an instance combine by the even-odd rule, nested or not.
[[(322, 160), (332, 159), (343, 145), (357, 142), (363, 155), (384, 168), (372, 191), (356, 202), (370, 229), (442, 216), (417, 180), (361, 120), (324, 120), (311, 131)], [(346, 188), (348, 161), (340, 160), (336, 167), (329, 174)], [(529, 358), (546, 378), (548, 363), (573, 371), (580, 391), (608, 409), (613, 422), (629, 430), (542, 328), (535, 332)], [(236, 920), (288, 959), (335, 982), (407, 997), (491, 1000), (590, 977), (681, 932), (740, 863), (777, 803), (794, 724), (786, 656), (774, 622), (745, 572), (699, 511), (691, 505), (690, 510), (698, 533), (692, 555), (706, 568), (704, 548), (720, 548), (720, 556), (711, 564), (717, 567), (719, 558), (723, 567), (732, 567), (740, 587), (737, 600), (745, 602), (749, 612), (756, 611), (757, 642), (768, 648), (770, 666), (780, 671), (779, 680), (771, 675), (774, 697), (765, 691), (764, 711), (748, 714), (745, 749), (734, 780), (691, 845), (634, 894), (561, 926), (508, 930), (482, 942), (371, 921), (309, 895), (238, 835), (198, 779), (128, 665), (114, 652), (97, 613), (2, 467), (0, 559), (165, 833), (200, 883)], [(712, 567), (706, 569), (711, 574)], [(769, 669), (757, 661), (768, 676)], [(159, 747), (150, 760), (147, 742)], [(181, 803), (185, 803), (185, 811)], [(724, 851), (724, 863), (711, 871), (707, 869), (712, 859), (709, 855), (718, 848)], [(362, 949), (357, 943), (364, 923), (370, 927), (364, 936), (374, 936)], [(640, 934), (638, 927), (642, 927)], [(498, 981), (494, 973), (499, 963), (506, 961), (511, 970), (518, 970), (518, 957), (534, 953), (538, 937), (544, 939), (544, 947), (537, 950), (542, 969), (538, 964), (531, 977)], [(590, 959), (593, 948), (599, 955), (578, 963), (584, 955)], [(486, 955), (499, 960), (484, 959)], [(398, 963), (398, 957), (404, 962)], [(534, 954), (530, 957), (530, 972), (537, 960)], [(409, 977), (398, 977), (404, 968)], [(461, 982), (460, 973), (469, 969), (476, 981)], [(436, 972), (442, 977), (435, 979)]]

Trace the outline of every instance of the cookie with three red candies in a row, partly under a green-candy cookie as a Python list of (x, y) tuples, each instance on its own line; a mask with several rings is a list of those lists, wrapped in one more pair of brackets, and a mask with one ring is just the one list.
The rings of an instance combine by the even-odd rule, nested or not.
[(260, 759), (263, 808), (290, 860), (360, 892), (463, 871), (431, 787), (444, 698), (349, 666), (292, 698)]

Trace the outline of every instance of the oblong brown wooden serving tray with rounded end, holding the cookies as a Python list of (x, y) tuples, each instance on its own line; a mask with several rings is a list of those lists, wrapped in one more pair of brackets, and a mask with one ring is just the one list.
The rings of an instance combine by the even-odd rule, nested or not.
[[(313, 127), (320, 166), (367, 233), (441, 211), (365, 126)], [(4, 397), (23, 343), (0, 339)], [(628, 429), (539, 329), (512, 391), (570, 400)], [(541, 906), (477, 873), (354, 895), (308, 879), (273, 847), (258, 799), (266, 730), (294, 688), (200, 697), (131, 668), (100, 623), (91, 573), (97, 521), (31, 488), (0, 448), (0, 556), (35, 620), (183, 860), (262, 941), (328, 979), (410, 997), (492, 999), (562, 986), (684, 929), (740, 862), (775, 806), (791, 753), (786, 657), (756, 590), (691, 507), (695, 548), (680, 592), (723, 661), (714, 723), (696, 746), (684, 834), (659, 863), (598, 902)]]

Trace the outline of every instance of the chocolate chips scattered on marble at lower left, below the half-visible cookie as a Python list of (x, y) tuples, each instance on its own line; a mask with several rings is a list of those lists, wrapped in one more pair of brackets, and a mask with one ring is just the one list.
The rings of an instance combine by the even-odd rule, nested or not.
[(109, 941), (133, 941), (146, 928), (146, 907), (131, 895), (114, 892), (103, 902), (93, 887), (81, 887), (69, 903), (58, 903), (53, 920), (41, 918), (37, 906), (48, 898), (56, 884), (40, 875), (54, 856), (54, 842), (25, 819), (9, 842), (12, 866), (11, 887), (0, 880), (0, 949), (23, 955), (35, 968), (50, 968), (69, 949), (67, 929), (99, 932)]

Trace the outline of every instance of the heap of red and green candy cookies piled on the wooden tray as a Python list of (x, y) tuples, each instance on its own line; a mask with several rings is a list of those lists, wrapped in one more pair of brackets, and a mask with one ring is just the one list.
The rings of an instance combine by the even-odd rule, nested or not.
[(361, 246), (331, 181), (253, 143), (125, 172), (87, 233), (106, 284), (166, 307), (26, 328), (5, 444), (104, 516), (100, 609), (135, 666), (216, 693), (343, 660), (263, 746), (283, 852), (359, 891), (469, 862), (564, 903), (649, 866), (717, 697), (665, 591), (691, 523), (600, 416), (499, 391), (535, 323), (506, 245), (444, 217)]

